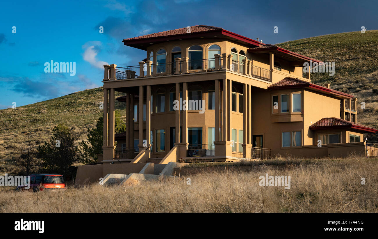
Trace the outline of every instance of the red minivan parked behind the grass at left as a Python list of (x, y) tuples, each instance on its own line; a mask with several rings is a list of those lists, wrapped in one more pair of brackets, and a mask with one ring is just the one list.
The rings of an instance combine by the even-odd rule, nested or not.
[[(66, 185), (61, 174), (30, 174), (30, 188), (37, 191), (65, 191)], [(25, 189), (25, 186), (17, 186), (16, 190)]]

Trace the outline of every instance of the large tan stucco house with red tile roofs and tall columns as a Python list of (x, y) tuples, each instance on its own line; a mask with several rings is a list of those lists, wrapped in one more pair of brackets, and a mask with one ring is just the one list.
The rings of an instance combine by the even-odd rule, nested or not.
[[(104, 65), (102, 163), (339, 157), (365, 154), (377, 132), (357, 123), (356, 98), (303, 73), (322, 61), (205, 25), (122, 42), (146, 59)], [(115, 136), (116, 100), (127, 131)]]

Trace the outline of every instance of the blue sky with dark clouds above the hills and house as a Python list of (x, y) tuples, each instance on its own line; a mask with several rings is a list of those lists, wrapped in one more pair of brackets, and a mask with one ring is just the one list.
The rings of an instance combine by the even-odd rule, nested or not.
[[(275, 44), (361, 26), (378, 29), (376, 9), (374, 1), (329, 0), (3, 2), (0, 109), (101, 86), (104, 62), (128, 66), (146, 58), (145, 51), (124, 46), (124, 38), (202, 24)], [(51, 60), (75, 62), (76, 74), (45, 73)]]

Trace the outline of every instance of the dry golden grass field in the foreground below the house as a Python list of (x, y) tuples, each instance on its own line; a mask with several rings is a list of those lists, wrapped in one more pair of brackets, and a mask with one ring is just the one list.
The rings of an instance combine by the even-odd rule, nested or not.
[[(181, 179), (129, 187), (71, 186), (60, 193), (8, 190), (0, 193), (0, 212), (378, 212), (377, 159), (278, 163), (285, 164), (250, 166), (250, 171), (201, 166), (201, 172)], [(265, 173), (290, 175), (291, 188), (259, 186)], [(366, 185), (361, 185), (362, 177)]]

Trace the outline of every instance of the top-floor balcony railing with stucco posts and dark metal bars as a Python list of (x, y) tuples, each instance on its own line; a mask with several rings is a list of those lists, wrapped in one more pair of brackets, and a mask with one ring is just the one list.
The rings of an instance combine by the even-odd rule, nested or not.
[(189, 57), (175, 58), (175, 62), (163, 64), (141, 61), (139, 65), (129, 67), (116, 67), (114, 64), (104, 65), (104, 81), (228, 70), (271, 82), (270, 70), (254, 66), (251, 61), (234, 61), (230, 55), (222, 54), (222, 57), (220, 56), (220, 54), (215, 54), (214, 58), (201, 60), (190, 60)]

